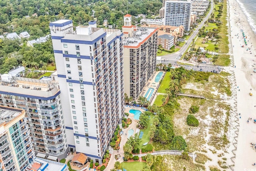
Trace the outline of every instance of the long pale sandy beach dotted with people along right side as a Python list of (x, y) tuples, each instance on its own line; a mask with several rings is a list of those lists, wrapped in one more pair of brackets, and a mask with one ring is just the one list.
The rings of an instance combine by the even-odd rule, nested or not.
[[(228, 8), (232, 37), (231, 53), (233, 52), (230, 55), (234, 55), (234, 67), (230, 67), (230, 70), (234, 70), (236, 78), (237, 112), (240, 125), (238, 138), (236, 138), (237, 148), (234, 151), (235, 163), (232, 168), (234, 171), (256, 170), (256, 166), (252, 165), (256, 163), (256, 158), (254, 158), (256, 149), (250, 145), (251, 142), (256, 143), (256, 124), (253, 121), (256, 119), (256, 114), (253, 112), (256, 110), (256, 73), (253, 73), (256, 68), (256, 36), (235, 0), (228, 0)], [(242, 31), (246, 36), (247, 45), (244, 42)], [(243, 45), (244, 47), (241, 47)], [(233, 110), (236, 111), (235, 108)]]

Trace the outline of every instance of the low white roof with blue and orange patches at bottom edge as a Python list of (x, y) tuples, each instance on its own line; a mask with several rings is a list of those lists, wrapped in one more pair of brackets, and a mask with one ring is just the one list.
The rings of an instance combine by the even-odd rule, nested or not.
[(35, 158), (29, 171), (63, 171), (67, 167), (64, 163)]

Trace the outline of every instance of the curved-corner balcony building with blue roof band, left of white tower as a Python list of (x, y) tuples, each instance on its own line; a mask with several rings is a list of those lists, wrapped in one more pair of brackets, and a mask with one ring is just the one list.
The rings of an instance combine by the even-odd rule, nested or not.
[(68, 151), (63, 104), (50, 81), (1, 75), (0, 105), (25, 110), (36, 155), (63, 159)]

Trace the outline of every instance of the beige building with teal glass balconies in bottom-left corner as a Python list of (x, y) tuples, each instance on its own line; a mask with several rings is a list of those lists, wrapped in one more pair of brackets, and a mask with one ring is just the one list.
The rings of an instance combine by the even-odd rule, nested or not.
[(33, 161), (25, 110), (0, 106), (0, 171), (24, 171)]

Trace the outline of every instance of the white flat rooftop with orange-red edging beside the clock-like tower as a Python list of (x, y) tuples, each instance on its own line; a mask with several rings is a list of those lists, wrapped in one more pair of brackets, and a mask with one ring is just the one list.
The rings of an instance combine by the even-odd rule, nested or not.
[(138, 46), (139, 43), (147, 39), (155, 30), (156, 28), (138, 27), (132, 37), (124, 38), (124, 46)]

